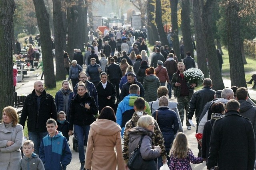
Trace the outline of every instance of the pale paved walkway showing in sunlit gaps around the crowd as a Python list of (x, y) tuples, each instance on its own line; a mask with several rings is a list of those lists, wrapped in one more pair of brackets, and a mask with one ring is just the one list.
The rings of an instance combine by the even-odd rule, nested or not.
[[(149, 61), (150, 63), (150, 61)], [(55, 66), (55, 63), (54, 63)], [(85, 70), (86, 66), (83, 67), (83, 70)], [(55, 69), (54, 69), (55, 70)], [(34, 89), (34, 82), (40, 80), (41, 78), (41, 74), (39, 76), (34, 76), (36, 75), (36, 73), (38, 73), (38, 70), (35, 71), (28, 71), (28, 77), (24, 77), (24, 82), (18, 82), (17, 86), (16, 86), (16, 92), (18, 94), (18, 96), (26, 96), (28, 94), (30, 94), (32, 92), (32, 90)], [(256, 74), (256, 72), (246, 72), (246, 74)], [(229, 75), (229, 73), (223, 73), (224, 75)], [(223, 78), (223, 82), (225, 87), (230, 87), (231, 83), (230, 80), (227, 78)], [(44, 80), (42, 80), (42, 82), (44, 82)], [(256, 100), (256, 90), (252, 90), (252, 89), (248, 89), (248, 92), (250, 94), (250, 97), (254, 100)], [(172, 93), (173, 94), (173, 93)], [(172, 99), (170, 99), (170, 101), (172, 102), (177, 102), (177, 99), (174, 98), (174, 96), (172, 95)], [(194, 122), (194, 124), (196, 124), (196, 120), (193, 117), (192, 121)], [(186, 129), (186, 122), (184, 123), (183, 129), (184, 129), (184, 133), (187, 135), (188, 137), (188, 141), (190, 144), (190, 148), (192, 150), (192, 152), (194, 153), (194, 155), (197, 156), (198, 154), (198, 149), (197, 149), (197, 140), (195, 138), (195, 134), (196, 134), (196, 128), (193, 128), (188, 131)], [(80, 163), (79, 163), (79, 156), (78, 156), (78, 152), (75, 152), (73, 150), (73, 144), (72, 144), (72, 137), (70, 136), (70, 150), (72, 151), (72, 161), (70, 163), (70, 165), (67, 167), (67, 170), (71, 170), (71, 169), (78, 169), (80, 168)], [(206, 169), (206, 162), (203, 162), (202, 164), (191, 164), (192, 169), (193, 170), (202, 170), (202, 169)], [(72, 168), (71, 168), (72, 167)]]

